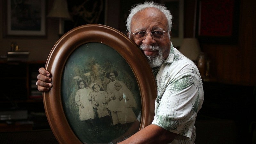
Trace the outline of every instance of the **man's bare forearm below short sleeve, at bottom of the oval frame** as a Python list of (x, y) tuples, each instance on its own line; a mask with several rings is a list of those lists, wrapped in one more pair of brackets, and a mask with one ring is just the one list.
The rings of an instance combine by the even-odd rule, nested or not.
[(176, 137), (176, 133), (169, 132), (155, 124), (150, 124), (139, 132), (132, 135), (130, 138), (120, 142), (120, 144), (155, 144), (155, 143), (170, 143)]

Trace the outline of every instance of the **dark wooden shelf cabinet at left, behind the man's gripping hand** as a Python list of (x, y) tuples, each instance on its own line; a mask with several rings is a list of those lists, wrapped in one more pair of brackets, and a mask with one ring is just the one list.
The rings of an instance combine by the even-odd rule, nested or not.
[(45, 61), (0, 62), (1, 132), (49, 128), (42, 92), (36, 86), (41, 67)]

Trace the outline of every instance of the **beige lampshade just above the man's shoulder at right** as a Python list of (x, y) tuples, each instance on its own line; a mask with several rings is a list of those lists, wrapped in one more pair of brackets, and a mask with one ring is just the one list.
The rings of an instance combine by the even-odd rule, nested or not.
[(196, 38), (184, 38), (179, 51), (192, 61), (196, 61), (201, 49)]

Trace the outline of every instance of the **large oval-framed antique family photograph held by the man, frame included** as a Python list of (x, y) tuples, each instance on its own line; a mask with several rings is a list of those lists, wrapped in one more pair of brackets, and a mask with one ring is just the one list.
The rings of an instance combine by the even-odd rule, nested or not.
[(88, 24), (63, 35), (45, 68), (47, 119), (59, 143), (117, 143), (151, 124), (155, 77), (139, 48), (114, 28)]

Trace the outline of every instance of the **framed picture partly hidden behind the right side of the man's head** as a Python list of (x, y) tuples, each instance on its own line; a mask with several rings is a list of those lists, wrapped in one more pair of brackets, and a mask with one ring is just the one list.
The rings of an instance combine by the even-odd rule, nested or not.
[(180, 47), (184, 38), (184, 0), (161, 0), (172, 14), (172, 35), (173, 46)]

